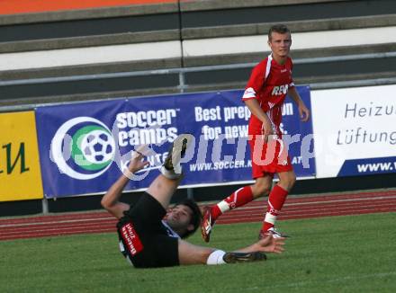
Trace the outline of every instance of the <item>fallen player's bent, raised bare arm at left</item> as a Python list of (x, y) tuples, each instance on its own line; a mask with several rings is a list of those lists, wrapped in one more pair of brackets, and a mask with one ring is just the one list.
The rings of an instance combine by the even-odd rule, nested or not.
[(121, 218), (123, 216), (123, 212), (130, 209), (129, 204), (119, 200), (125, 185), (127, 185), (130, 180), (130, 175), (143, 169), (144, 166), (148, 164), (147, 161), (143, 161), (142, 159), (143, 155), (139, 149), (138, 152), (133, 152), (128, 169), (126, 169), (121, 177), (112, 184), (112, 187), (106, 192), (106, 194), (104, 194), (101, 200), (102, 207), (115, 218)]

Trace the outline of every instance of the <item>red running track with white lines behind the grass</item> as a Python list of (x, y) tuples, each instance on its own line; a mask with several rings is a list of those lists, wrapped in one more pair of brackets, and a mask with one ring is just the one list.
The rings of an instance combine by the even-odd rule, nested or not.
[[(266, 200), (255, 200), (221, 216), (217, 224), (259, 222)], [(396, 191), (371, 191), (290, 198), (279, 220), (319, 218), (396, 211)], [(68, 213), (0, 219), (0, 241), (33, 237), (115, 232), (115, 218), (106, 212)]]

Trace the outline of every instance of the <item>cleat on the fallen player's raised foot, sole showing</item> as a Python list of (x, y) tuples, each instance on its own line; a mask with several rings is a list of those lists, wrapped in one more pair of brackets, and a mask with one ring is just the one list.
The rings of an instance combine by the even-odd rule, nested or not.
[(187, 147), (193, 140), (192, 138), (193, 135), (184, 133), (175, 139), (163, 164), (166, 170), (181, 173), (180, 159), (184, 157)]

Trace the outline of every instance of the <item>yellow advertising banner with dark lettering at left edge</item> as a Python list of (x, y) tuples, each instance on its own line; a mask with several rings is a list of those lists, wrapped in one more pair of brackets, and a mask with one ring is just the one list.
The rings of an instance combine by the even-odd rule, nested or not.
[(43, 198), (33, 111), (0, 114), (0, 201)]

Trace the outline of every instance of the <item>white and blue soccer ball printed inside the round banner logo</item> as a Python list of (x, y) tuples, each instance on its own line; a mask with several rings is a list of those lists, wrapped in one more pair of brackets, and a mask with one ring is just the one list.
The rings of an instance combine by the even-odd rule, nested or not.
[(94, 129), (81, 138), (80, 149), (89, 163), (104, 164), (112, 160), (115, 143), (110, 133)]

